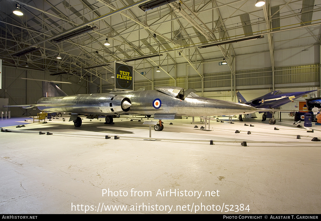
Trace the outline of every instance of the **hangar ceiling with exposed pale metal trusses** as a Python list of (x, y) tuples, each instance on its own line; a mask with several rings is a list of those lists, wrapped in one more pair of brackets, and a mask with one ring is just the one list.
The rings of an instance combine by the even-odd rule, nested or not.
[[(266, 0), (263, 7), (255, 7), (254, 0), (186, 0), (146, 12), (137, 7), (142, 2), (146, 1), (0, 0), (4, 9), (0, 12), (0, 59), (3, 65), (24, 67), (28, 63), (30, 69), (68, 72), (101, 86), (98, 80), (113, 84), (110, 80), (113, 65), (85, 67), (162, 53), (162, 57), (126, 64), (133, 65), (137, 73), (159, 66), (175, 81), (170, 71), (178, 64), (192, 67), (203, 79), (202, 63), (226, 58), (235, 81), (236, 56), (268, 51), (274, 76), (275, 50), (320, 44), (320, 0)], [(21, 17), (12, 13), (16, 3), (22, 5)], [(52, 42), (62, 33), (86, 25), (96, 28)], [(282, 31), (291, 28), (295, 28), (291, 34), (282, 35)], [(257, 34), (265, 38), (198, 48)], [(108, 47), (104, 46), (106, 38), (111, 43)], [(39, 50), (13, 56), (30, 47)], [(57, 53), (61, 54), (61, 60), (56, 59)], [(143, 78), (152, 81), (150, 75)]]

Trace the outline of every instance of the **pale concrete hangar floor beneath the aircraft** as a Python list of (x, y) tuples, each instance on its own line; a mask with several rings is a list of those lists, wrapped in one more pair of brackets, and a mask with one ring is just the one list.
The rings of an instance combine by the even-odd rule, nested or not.
[[(93, 138), (90, 134), (148, 137), (149, 126), (126, 117), (115, 119), (113, 125), (104, 124), (104, 119), (82, 119), (80, 128), (62, 117), (47, 124), (6, 127), (53, 132), (49, 136), (0, 132), (0, 213), (320, 213), (321, 143), (285, 135), (320, 138), (320, 126), (313, 125), (314, 133), (307, 133), (290, 121), (269, 125), (233, 118), (235, 124), (211, 121), (213, 131), (204, 131), (200, 130), (204, 124), (191, 124), (189, 117), (163, 120), (163, 131), (152, 130), (152, 137), (162, 138), (296, 142), (248, 142), (244, 147), (228, 142)], [(109, 196), (102, 195), (104, 189), (109, 189)]]

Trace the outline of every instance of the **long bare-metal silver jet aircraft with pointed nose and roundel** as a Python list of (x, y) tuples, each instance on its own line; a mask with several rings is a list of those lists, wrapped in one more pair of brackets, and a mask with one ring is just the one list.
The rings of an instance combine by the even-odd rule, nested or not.
[(268, 109), (257, 109), (246, 104), (204, 98), (196, 95), (194, 89), (180, 87), (155, 87), (156, 90), (115, 91), (101, 94), (68, 96), (53, 82), (43, 82), (43, 98), (34, 105), (14, 105), (23, 108), (38, 107), (39, 110), (54, 113), (72, 113), (69, 121), (80, 127), (82, 119), (78, 114), (106, 115), (106, 123), (113, 122), (113, 116), (121, 113), (153, 115), (159, 123), (155, 131), (162, 131), (162, 119), (175, 116), (241, 115)]

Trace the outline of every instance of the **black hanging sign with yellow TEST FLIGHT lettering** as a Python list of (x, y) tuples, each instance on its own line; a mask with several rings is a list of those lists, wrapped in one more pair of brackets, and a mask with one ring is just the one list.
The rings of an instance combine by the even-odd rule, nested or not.
[(134, 90), (133, 66), (115, 62), (115, 89)]

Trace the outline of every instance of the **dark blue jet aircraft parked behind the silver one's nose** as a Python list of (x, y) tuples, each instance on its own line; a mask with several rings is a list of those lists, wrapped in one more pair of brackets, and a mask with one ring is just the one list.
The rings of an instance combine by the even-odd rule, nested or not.
[[(306, 95), (317, 90), (309, 90), (302, 92), (290, 92), (290, 93), (282, 93), (279, 90), (275, 90), (273, 92), (267, 93), (261, 97), (255, 98), (250, 101), (246, 101), (240, 92), (237, 92), (236, 95), (238, 97), (238, 101), (241, 104), (247, 104), (256, 108), (265, 108), (265, 109), (279, 109), (280, 106), (285, 105), (299, 97)], [(262, 112), (259, 112), (262, 113)], [(262, 115), (262, 121), (266, 120), (266, 113)], [(274, 113), (271, 110), (272, 119), (269, 119), (269, 124), (275, 124)], [(242, 115), (239, 116), (239, 120), (242, 121)]]

